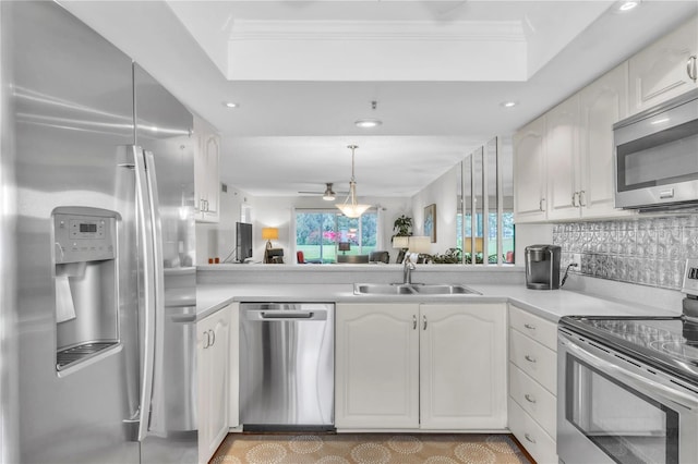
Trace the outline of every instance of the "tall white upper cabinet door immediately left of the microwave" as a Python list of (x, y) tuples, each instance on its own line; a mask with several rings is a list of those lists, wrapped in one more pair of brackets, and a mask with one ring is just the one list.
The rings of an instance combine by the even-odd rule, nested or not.
[(619, 216), (614, 208), (613, 124), (627, 115), (627, 62), (579, 93), (581, 149), (581, 215)]

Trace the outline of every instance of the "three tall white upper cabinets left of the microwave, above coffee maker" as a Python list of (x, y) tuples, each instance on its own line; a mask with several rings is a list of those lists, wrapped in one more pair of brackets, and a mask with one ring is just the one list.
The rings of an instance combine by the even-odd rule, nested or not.
[(623, 63), (521, 129), (514, 137), (516, 221), (629, 215), (614, 207), (613, 179), (613, 124), (626, 115)]

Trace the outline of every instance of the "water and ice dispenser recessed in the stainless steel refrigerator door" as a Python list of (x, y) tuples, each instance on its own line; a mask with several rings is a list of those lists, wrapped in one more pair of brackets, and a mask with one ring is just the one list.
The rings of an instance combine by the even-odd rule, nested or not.
[(117, 212), (53, 210), (56, 369), (119, 344)]

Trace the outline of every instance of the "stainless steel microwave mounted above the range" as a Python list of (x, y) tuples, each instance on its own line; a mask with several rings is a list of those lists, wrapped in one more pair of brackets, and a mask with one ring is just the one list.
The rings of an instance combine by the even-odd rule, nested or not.
[(615, 206), (698, 208), (698, 89), (613, 125)]

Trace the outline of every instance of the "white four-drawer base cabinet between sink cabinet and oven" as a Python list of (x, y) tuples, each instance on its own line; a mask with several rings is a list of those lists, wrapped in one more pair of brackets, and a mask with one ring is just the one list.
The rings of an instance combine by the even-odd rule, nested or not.
[(557, 463), (556, 325), (509, 306), (509, 430), (539, 463)]

